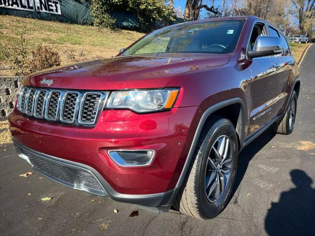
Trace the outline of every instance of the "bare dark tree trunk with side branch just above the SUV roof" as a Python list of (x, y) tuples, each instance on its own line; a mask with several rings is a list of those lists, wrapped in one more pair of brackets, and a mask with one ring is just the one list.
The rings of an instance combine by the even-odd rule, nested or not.
[(187, 21), (196, 21), (199, 19), (200, 10), (205, 8), (207, 11), (217, 14), (218, 11), (214, 7), (214, 0), (212, 6), (209, 7), (207, 4), (202, 4), (202, 0), (187, 0), (184, 11), (184, 19)]

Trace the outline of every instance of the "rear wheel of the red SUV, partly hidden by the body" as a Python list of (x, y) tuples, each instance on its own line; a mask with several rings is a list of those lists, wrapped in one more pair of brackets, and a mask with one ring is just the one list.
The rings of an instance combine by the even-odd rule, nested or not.
[(284, 118), (272, 125), (272, 131), (275, 134), (290, 134), (293, 131), (297, 108), (297, 95), (293, 91), (291, 101), (286, 109)]

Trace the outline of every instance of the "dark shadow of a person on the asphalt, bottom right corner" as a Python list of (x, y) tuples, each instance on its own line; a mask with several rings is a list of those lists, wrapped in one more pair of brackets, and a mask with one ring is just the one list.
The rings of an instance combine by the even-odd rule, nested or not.
[(315, 235), (315, 189), (313, 180), (304, 171), (292, 170), (296, 188), (282, 192), (279, 203), (272, 203), (265, 219), (270, 236)]

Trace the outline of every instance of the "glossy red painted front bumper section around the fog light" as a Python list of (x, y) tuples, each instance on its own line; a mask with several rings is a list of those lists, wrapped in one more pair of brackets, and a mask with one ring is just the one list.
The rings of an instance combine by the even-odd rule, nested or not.
[[(92, 168), (101, 177), (98, 180), (103, 179), (114, 192), (132, 199), (175, 189), (197, 126), (197, 109), (173, 108), (142, 115), (106, 110), (95, 127), (38, 120), (15, 109), (9, 124), (15, 142), (31, 152)], [(113, 149), (154, 149), (156, 155), (148, 166), (122, 167), (109, 157), (108, 150)], [(115, 197), (106, 188), (104, 192)]]

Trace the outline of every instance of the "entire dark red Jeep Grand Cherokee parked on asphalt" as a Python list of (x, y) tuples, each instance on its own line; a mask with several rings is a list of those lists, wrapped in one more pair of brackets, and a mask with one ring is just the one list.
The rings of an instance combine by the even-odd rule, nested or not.
[(28, 76), (9, 116), (20, 157), (66, 186), (209, 219), (238, 153), (292, 132), (300, 82), (284, 35), (256, 17), (158, 29), (117, 57)]

